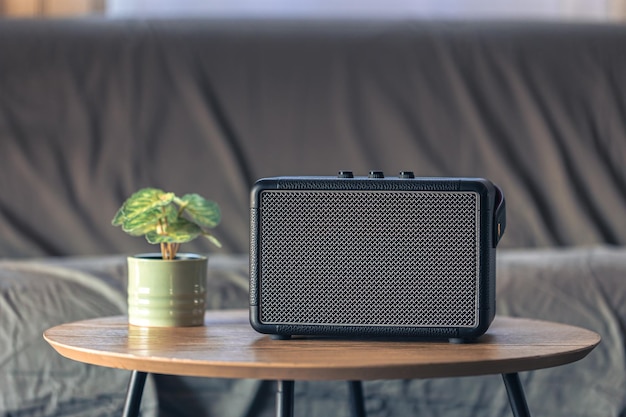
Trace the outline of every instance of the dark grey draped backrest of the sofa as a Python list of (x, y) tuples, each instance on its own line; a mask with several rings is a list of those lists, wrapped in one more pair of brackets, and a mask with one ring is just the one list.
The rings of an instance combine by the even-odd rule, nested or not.
[[(0, 22), (0, 257), (152, 250), (133, 191), (198, 192), (223, 251), (274, 175), (479, 176), (502, 247), (626, 244), (626, 26)], [(208, 251), (194, 242), (189, 250)]]

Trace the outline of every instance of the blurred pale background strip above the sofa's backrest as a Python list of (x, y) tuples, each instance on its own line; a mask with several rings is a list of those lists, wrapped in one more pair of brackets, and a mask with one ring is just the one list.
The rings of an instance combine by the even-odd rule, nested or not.
[(405, 16), (626, 22), (626, 0), (0, 0), (2, 17)]

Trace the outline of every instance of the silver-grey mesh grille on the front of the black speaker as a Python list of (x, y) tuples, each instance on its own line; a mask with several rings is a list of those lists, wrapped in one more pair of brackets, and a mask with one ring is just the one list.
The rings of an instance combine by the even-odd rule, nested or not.
[(475, 326), (474, 192), (263, 191), (261, 322)]

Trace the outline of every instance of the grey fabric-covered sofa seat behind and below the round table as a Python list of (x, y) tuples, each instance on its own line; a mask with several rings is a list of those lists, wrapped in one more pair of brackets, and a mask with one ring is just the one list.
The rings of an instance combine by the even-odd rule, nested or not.
[[(626, 249), (621, 247), (498, 253), (498, 314), (578, 325), (602, 336), (580, 362), (521, 374), (536, 415), (619, 416), (626, 411), (624, 277)], [(125, 258), (0, 261), (0, 282), (0, 341), (11, 347), (0, 362), (0, 410), (59, 417), (119, 413), (129, 372), (64, 359), (41, 334), (67, 321), (124, 314)], [(248, 307), (247, 256), (210, 256), (207, 282), (210, 309)], [(273, 385), (267, 381), (151, 378), (145, 416), (273, 415)], [(368, 416), (510, 413), (496, 376), (367, 381), (364, 391)], [(338, 410), (347, 415), (347, 407), (341, 382), (296, 384), (298, 415), (340, 415)]]

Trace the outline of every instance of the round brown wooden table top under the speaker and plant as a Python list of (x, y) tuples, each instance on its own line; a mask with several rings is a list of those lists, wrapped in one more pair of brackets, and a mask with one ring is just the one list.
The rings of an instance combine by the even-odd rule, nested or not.
[(207, 312), (205, 326), (146, 328), (124, 316), (53, 327), (44, 338), (61, 355), (142, 372), (273, 380), (373, 380), (513, 373), (584, 358), (600, 336), (575, 326), (496, 317), (477, 341), (274, 340), (246, 310)]

